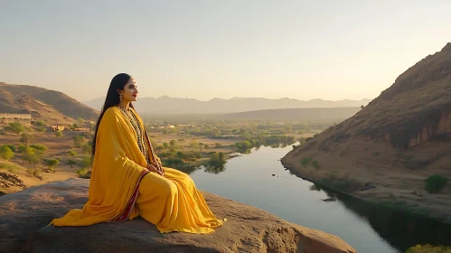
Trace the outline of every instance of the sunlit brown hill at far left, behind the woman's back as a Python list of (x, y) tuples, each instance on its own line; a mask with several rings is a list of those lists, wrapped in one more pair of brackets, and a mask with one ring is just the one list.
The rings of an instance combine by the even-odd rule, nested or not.
[(32, 114), (33, 119), (49, 124), (79, 117), (95, 120), (99, 115), (98, 111), (60, 91), (5, 82), (0, 82), (0, 112)]

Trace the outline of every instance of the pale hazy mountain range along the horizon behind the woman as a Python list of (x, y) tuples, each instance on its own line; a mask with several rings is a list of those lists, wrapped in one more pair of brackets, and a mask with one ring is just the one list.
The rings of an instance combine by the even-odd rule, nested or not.
[[(96, 98), (84, 102), (90, 108), (100, 110), (105, 98)], [(352, 108), (366, 106), (371, 99), (330, 101), (312, 99), (308, 101), (294, 98), (212, 98), (200, 101), (194, 98), (139, 98), (136, 110), (145, 114), (223, 114), (243, 111), (279, 109), (279, 108)]]

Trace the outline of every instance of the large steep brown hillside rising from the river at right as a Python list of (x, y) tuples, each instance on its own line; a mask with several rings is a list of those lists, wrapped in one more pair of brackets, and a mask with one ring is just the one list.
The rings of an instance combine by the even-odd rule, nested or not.
[(451, 43), (282, 162), (335, 190), (451, 221), (449, 183), (439, 194), (424, 190), (430, 175), (451, 178)]

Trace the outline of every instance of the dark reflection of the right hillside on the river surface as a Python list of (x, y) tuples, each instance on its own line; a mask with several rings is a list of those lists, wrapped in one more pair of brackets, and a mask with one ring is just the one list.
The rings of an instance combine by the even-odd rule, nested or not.
[(449, 224), (359, 201), (352, 196), (334, 192), (315, 183), (309, 187), (309, 190), (324, 191), (328, 196), (336, 197), (347, 209), (367, 220), (381, 238), (401, 252), (418, 244), (445, 246), (451, 244)]

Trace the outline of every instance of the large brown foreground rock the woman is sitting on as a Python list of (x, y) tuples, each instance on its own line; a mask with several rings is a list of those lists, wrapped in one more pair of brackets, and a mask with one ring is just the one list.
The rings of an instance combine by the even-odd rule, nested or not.
[(89, 180), (69, 179), (0, 197), (2, 252), (356, 252), (342, 239), (258, 208), (202, 192), (227, 220), (210, 235), (161, 234), (137, 218), (89, 227), (46, 227), (87, 201)]

